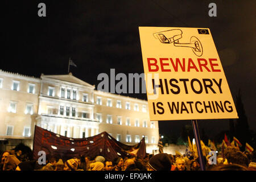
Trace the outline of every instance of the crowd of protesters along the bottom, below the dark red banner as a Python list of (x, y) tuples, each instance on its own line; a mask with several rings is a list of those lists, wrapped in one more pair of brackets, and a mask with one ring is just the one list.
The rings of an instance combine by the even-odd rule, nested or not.
[[(223, 157), (222, 157), (223, 156)], [(218, 155), (214, 164), (205, 156), (208, 171), (256, 171), (256, 151), (241, 152), (236, 147), (228, 147), (224, 155)], [(118, 157), (114, 160), (104, 156), (74, 157), (64, 160), (47, 155), (44, 164), (39, 160), (28, 160), (22, 151), (5, 151), (1, 155), (0, 171), (200, 171), (199, 159), (193, 156), (171, 154), (147, 154), (145, 158)], [(213, 164), (211, 164), (213, 163)]]

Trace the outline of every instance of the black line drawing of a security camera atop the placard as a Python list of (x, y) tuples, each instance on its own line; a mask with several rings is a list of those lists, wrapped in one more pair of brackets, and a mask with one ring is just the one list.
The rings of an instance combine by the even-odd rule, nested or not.
[(174, 43), (176, 47), (190, 47), (193, 53), (197, 56), (203, 55), (203, 47), (199, 39), (195, 36), (190, 38), (190, 43), (180, 43), (179, 39), (182, 38), (182, 31), (180, 29), (172, 29), (153, 34), (156, 39), (159, 39), (163, 44)]

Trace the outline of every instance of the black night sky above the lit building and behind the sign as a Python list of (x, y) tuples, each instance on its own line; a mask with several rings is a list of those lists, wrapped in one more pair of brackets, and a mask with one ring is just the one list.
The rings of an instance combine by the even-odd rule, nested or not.
[[(46, 4), (46, 17), (38, 4)], [(210, 17), (209, 3), (217, 5)], [(68, 73), (96, 85), (97, 76), (143, 73), (139, 26), (210, 28), (233, 99), (241, 89), (250, 129), (255, 123), (255, 1), (1, 1), (0, 69), (40, 77)], [(125, 95), (125, 94), (124, 94)], [(126, 95), (128, 96), (128, 95)], [(130, 94), (146, 100), (146, 94)], [(191, 121), (160, 121), (161, 134), (179, 134)], [(199, 121), (209, 136), (228, 119)]]

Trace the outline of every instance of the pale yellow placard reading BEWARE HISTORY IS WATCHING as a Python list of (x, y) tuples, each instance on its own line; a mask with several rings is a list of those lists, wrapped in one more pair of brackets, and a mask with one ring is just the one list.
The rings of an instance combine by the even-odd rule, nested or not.
[(139, 27), (150, 120), (238, 118), (209, 28)]

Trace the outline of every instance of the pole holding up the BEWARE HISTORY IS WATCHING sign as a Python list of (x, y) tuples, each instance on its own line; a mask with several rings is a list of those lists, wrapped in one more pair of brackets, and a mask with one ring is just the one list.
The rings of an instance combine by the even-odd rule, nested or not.
[(200, 140), (199, 130), (197, 126), (197, 120), (192, 120), (192, 127), (194, 131), (195, 139), (196, 139), (196, 147), (198, 151), (201, 171), (205, 171), (204, 158), (203, 158), (203, 152), (201, 148), (201, 140)]

